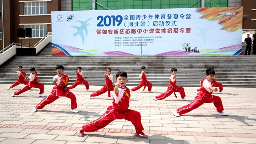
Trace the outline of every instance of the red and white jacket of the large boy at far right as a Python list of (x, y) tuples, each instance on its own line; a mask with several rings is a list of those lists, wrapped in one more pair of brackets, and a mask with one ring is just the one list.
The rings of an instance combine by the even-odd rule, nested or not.
[(203, 85), (204, 81), (205, 81), (205, 83), (210, 84), (212, 86), (211, 81), (209, 81), (207, 78), (204, 78), (200, 82), (201, 91), (196, 95), (195, 99), (202, 100), (202, 97), (205, 97), (208, 101), (210, 101), (212, 103), (212, 102), (214, 102), (213, 96), (212, 96), (212, 90), (210, 90), (210, 91), (206, 90), (206, 88)]

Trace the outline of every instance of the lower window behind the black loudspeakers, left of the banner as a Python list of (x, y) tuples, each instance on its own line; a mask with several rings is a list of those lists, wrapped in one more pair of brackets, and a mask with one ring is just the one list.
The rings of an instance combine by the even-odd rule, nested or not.
[(32, 27), (32, 37), (44, 37), (47, 33), (47, 25), (24, 25), (24, 27)]

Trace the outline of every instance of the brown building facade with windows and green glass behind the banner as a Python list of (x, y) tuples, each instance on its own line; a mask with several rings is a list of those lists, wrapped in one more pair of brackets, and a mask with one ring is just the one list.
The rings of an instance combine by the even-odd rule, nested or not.
[[(52, 11), (92, 10), (93, 0), (0, 0), (0, 49), (20, 43), (17, 28), (32, 28), (30, 45), (52, 31)], [(255, 0), (95, 0), (95, 10), (255, 6)], [(253, 8), (251, 8), (253, 9)], [(244, 8), (245, 10), (245, 8)], [(251, 12), (256, 12), (255, 10)], [(249, 15), (248, 19), (253, 17)], [(255, 14), (254, 14), (255, 17)], [(256, 19), (256, 18), (254, 18)], [(245, 18), (245, 20), (247, 20)], [(255, 21), (254, 21), (255, 22)], [(245, 22), (247, 27), (252, 23)], [(256, 26), (254, 24), (254, 26)], [(249, 27), (249, 26), (248, 26)], [(253, 27), (253, 26), (252, 26)], [(28, 38), (22, 38), (28, 44)]]

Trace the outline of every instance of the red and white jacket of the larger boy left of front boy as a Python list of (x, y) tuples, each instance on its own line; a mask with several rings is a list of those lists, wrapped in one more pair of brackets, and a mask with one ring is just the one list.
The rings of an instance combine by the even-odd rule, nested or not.
[(53, 87), (53, 91), (51, 94), (56, 95), (58, 97), (65, 97), (70, 91), (66, 88), (69, 78), (66, 74), (63, 74), (62, 76), (59, 76), (58, 74), (53, 77), (53, 79), (57, 78), (57, 81), (55, 82), (55, 86)]

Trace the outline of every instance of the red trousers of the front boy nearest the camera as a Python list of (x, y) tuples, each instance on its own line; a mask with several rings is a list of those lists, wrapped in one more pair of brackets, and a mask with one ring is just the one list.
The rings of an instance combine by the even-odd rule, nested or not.
[[(113, 106), (109, 106), (108, 110), (97, 120), (91, 121), (82, 126), (85, 132), (94, 132), (96, 130), (104, 128), (110, 122), (115, 120), (113, 115)], [(108, 114), (106, 114), (108, 113)], [(144, 130), (141, 124), (141, 114), (138, 111), (128, 109), (124, 120), (129, 120), (135, 127), (136, 133), (141, 133)]]

